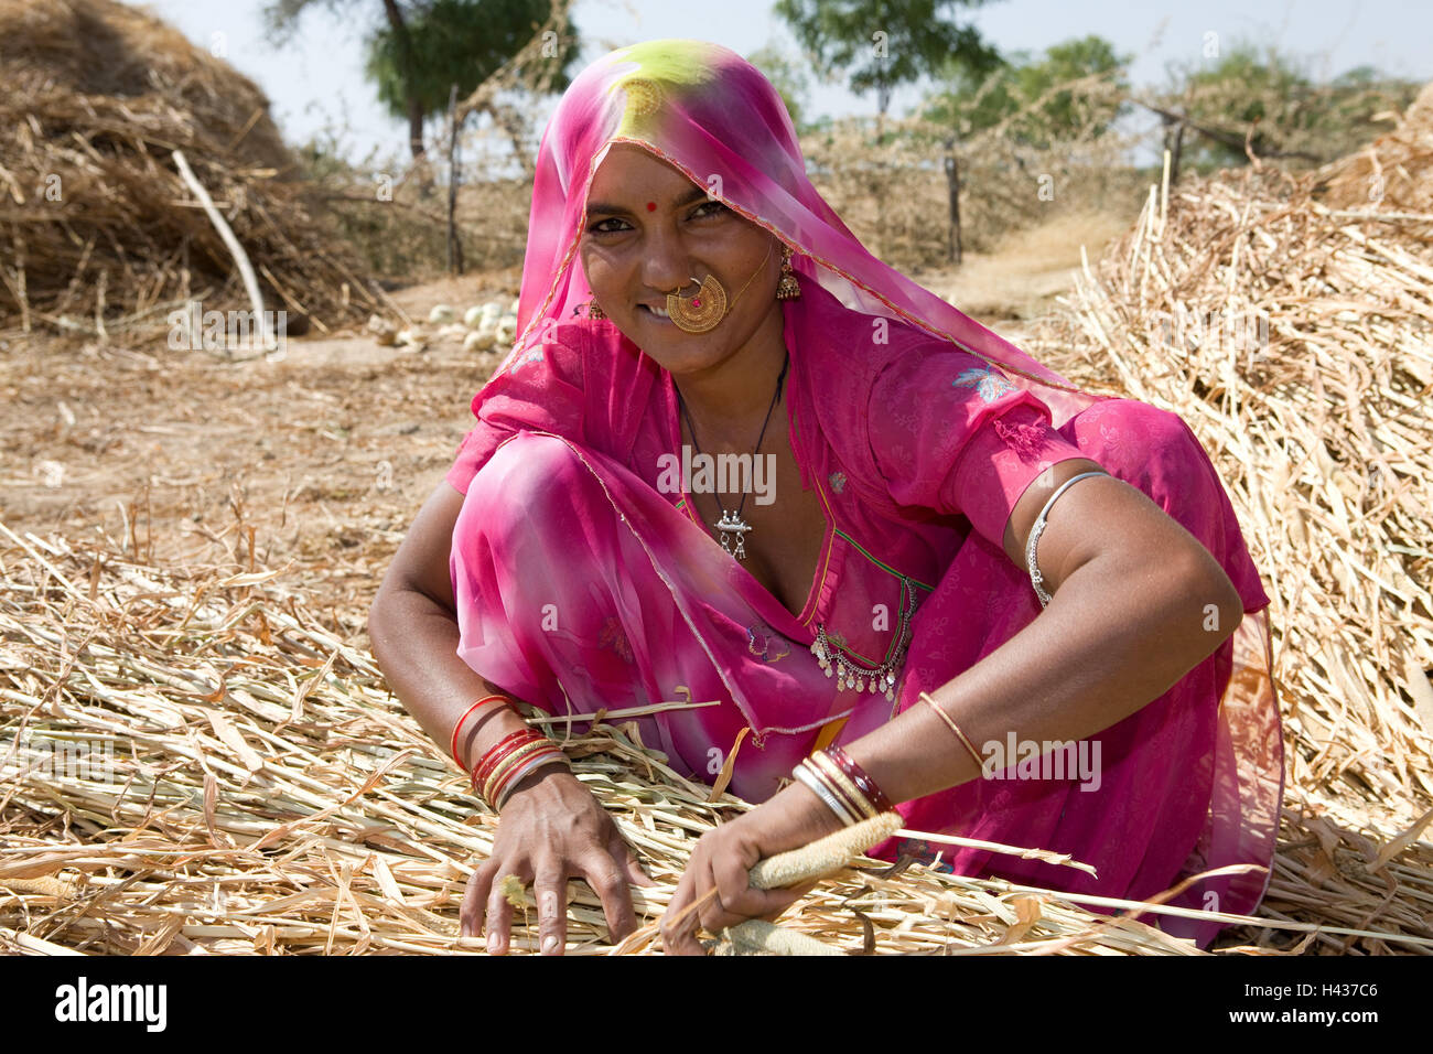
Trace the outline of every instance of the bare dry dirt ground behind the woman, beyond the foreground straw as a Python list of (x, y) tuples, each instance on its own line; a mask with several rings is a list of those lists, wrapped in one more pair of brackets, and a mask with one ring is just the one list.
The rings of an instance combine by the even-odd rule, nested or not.
[[(917, 277), (1019, 340), (1070, 288), (1075, 231), (1009, 260)], [(1103, 234), (1102, 231), (1099, 234)], [(1101, 244), (1089, 244), (1095, 258)], [(962, 293), (962, 283), (964, 283)], [(414, 318), (514, 295), (513, 270), (394, 294)], [(964, 300), (957, 300), (964, 304)], [(980, 308), (976, 311), (974, 308)], [(297, 569), (299, 599), (365, 642), (367, 607), (418, 506), (471, 426), (497, 354), (289, 338), (282, 357), (0, 336), (0, 521), (102, 533), (149, 561)]]

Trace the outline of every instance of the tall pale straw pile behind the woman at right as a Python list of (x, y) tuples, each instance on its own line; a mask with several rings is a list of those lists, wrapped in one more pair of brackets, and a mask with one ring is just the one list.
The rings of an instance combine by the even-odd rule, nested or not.
[[(1422, 142), (1426, 166), (1422, 99), (1357, 158), (1413, 171), (1412, 151), (1390, 156)], [(1234, 500), (1285, 718), (1264, 912), (1433, 936), (1433, 214), (1396, 195), (1330, 208), (1327, 178), (1252, 166), (1151, 188), (1023, 343), (1179, 413)]]

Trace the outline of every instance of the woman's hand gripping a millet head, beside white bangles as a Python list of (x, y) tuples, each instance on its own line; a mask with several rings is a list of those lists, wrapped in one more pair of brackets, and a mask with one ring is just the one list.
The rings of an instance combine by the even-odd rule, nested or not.
[[(696, 939), (698, 925), (708, 934), (719, 934), (747, 919), (774, 919), (815, 882), (790, 889), (752, 889), (747, 872), (757, 860), (815, 842), (841, 826), (821, 799), (804, 784), (792, 783), (764, 804), (702, 835), (662, 915), (663, 951), (705, 955)], [(688, 912), (694, 903), (699, 906)]]

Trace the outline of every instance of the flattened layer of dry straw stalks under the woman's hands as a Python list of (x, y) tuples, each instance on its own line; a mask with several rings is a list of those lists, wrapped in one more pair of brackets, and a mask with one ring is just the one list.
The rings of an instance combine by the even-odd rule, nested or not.
[[(0, 523), (0, 951), (481, 954), (457, 938), (457, 909), (496, 817), (367, 650), (297, 602), (285, 569), (132, 552)], [(623, 954), (659, 949), (695, 840), (747, 807), (708, 800), (633, 731), (613, 714), (566, 743), (658, 882), (633, 888), (642, 928)], [(1403, 875), (1422, 866), (1426, 898), (1426, 850), (1404, 850), (1374, 885), (1399, 875), (1407, 895)], [(610, 952), (599, 902), (570, 889), (569, 954)], [(1311, 919), (1373, 945), (1412, 932), (1383, 916), (1340, 929), (1347, 905)], [(870, 860), (781, 922), (850, 954), (1198, 954), (1060, 895)], [(1231, 951), (1268, 954), (1314, 926), (1284, 928)], [(536, 946), (530, 903), (513, 946)]]

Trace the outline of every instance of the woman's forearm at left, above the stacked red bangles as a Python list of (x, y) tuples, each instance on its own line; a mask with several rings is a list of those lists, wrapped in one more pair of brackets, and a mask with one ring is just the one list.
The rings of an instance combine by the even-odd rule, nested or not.
[[(464, 711), (483, 695), (503, 694), (459, 657), (460, 634), (453, 612), (418, 589), (381, 588), (368, 612), (368, 637), (374, 658), (404, 710), (444, 753)], [(524, 726), (512, 707), (484, 707), (463, 723), (459, 740), (463, 767), (471, 771), (502, 737)]]

